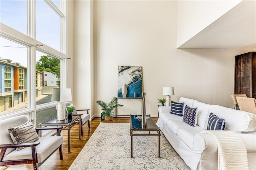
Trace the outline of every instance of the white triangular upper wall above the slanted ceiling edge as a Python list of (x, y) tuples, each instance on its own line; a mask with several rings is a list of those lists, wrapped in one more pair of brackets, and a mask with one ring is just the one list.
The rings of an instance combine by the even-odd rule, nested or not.
[(179, 0), (177, 47), (204, 30), (242, 0)]

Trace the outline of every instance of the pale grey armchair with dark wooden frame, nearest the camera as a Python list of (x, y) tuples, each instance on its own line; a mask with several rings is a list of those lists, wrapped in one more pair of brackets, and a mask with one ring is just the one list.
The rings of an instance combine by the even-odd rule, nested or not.
[[(0, 121), (0, 166), (33, 164), (33, 169), (38, 170), (38, 167), (44, 163), (56, 150), (59, 150), (60, 160), (63, 160), (63, 138), (60, 136), (60, 129), (62, 127), (36, 128), (36, 133), (38, 133), (40, 130), (56, 129), (57, 135), (39, 137), (35, 142), (14, 143), (12, 139), (13, 136), (11, 137), (10, 135), (10, 129), (21, 127), (27, 122), (28, 118), (25, 115)], [(22, 138), (22, 140), (24, 140), (24, 138)], [(19, 150), (20, 148), (23, 149)]]

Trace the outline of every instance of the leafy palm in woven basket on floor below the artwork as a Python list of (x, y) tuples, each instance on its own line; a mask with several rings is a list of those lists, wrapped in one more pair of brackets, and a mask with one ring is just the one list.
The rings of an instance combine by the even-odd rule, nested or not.
[(116, 107), (122, 107), (123, 105), (121, 104), (116, 104), (116, 97), (113, 97), (110, 101), (110, 103), (105, 103), (104, 101), (97, 100), (96, 103), (101, 107), (101, 110), (103, 111), (101, 113), (101, 120), (106, 120), (106, 121), (112, 121), (114, 112), (113, 110)]

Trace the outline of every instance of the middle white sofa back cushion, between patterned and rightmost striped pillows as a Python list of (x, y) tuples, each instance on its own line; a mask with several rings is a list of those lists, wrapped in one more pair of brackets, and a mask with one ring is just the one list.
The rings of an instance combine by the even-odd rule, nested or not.
[(207, 129), (208, 115), (211, 105), (194, 101), (193, 107), (197, 107), (197, 125)]

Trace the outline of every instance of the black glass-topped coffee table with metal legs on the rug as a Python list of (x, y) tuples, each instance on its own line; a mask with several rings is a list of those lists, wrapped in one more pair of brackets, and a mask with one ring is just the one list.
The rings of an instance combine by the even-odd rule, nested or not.
[[(158, 158), (160, 158), (160, 136), (161, 136), (161, 130), (156, 125), (156, 123), (153, 121), (153, 119), (150, 117), (150, 115), (147, 115), (149, 117), (147, 119), (146, 126), (142, 126), (141, 120), (136, 119), (138, 115), (130, 115), (130, 135), (131, 135), (131, 158), (132, 156), (132, 137), (133, 136), (158, 136)], [(133, 132), (148, 132), (148, 133), (136, 133)], [(150, 132), (157, 132), (157, 133), (150, 133)]]

